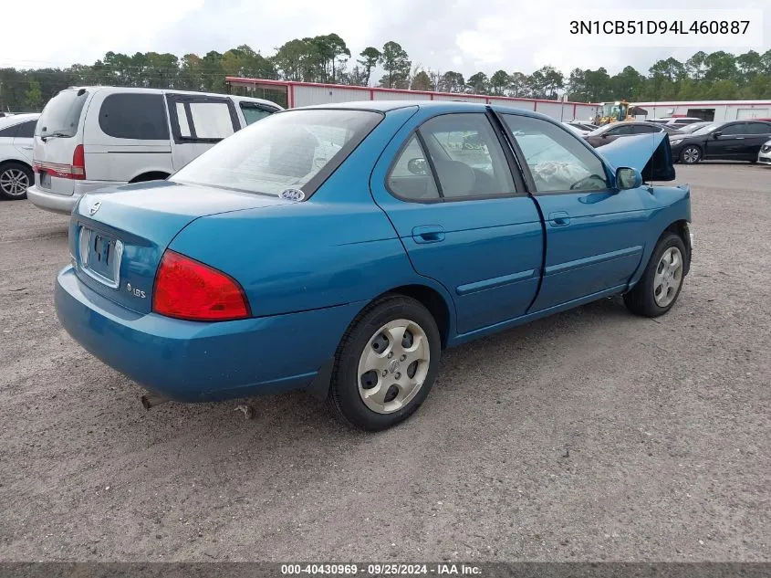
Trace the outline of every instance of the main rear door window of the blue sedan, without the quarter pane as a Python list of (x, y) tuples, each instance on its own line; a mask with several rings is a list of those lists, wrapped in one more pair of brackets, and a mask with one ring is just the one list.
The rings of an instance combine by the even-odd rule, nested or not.
[(484, 113), (434, 117), (419, 131), (444, 197), (516, 192), (501, 143)]

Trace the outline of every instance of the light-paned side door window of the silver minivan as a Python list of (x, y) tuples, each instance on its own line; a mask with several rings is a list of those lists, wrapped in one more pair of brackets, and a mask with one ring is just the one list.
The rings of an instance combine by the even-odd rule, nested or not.
[(209, 96), (168, 96), (175, 142), (219, 142), (240, 126), (230, 99)]

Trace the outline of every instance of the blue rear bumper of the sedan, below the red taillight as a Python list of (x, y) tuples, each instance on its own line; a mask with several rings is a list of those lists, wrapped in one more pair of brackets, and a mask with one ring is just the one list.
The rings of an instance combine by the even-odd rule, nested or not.
[(363, 303), (243, 321), (175, 320), (120, 307), (72, 267), (57, 276), (57, 317), (87, 351), (152, 392), (216, 401), (318, 387)]

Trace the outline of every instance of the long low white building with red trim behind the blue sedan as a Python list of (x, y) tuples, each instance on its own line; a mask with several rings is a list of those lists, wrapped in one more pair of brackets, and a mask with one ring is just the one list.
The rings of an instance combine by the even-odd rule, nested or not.
[[(350, 102), (353, 100), (463, 100), (483, 104), (499, 104), (516, 109), (536, 110), (547, 114), (557, 121), (589, 120), (597, 113), (597, 105), (586, 102), (570, 102), (544, 99), (519, 99), (454, 92), (429, 92), (424, 90), (375, 89), (368, 87), (320, 84), (317, 82), (294, 82), (290, 80), (242, 79), (227, 77), (229, 89), (243, 90), (247, 96), (255, 92), (277, 91), (286, 98), (287, 108), (325, 104), (331, 102)], [(263, 98), (269, 98), (264, 94)], [(284, 105), (283, 102), (279, 104)]]

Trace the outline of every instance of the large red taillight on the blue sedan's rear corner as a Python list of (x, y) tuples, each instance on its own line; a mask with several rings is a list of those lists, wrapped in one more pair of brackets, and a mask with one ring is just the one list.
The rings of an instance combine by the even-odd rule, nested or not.
[(234, 278), (169, 250), (155, 277), (152, 310), (188, 321), (233, 321), (251, 315), (244, 289)]

